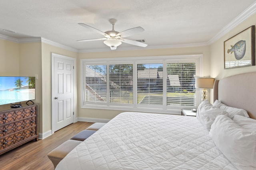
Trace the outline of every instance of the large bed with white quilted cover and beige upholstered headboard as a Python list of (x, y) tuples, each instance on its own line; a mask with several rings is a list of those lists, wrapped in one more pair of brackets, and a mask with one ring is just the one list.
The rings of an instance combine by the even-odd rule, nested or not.
[[(256, 72), (251, 72), (216, 81), (214, 100), (218, 99), (218, 104), (246, 110), (251, 118), (242, 116), (242, 119), (238, 121), (241, 123), (241, 120), (246, 119), (247, 122), (249, 119), (254, 123), (256, 118), (255, 80)], [(198, 107), (198, 110), (203, 113), (204, 108), (206, 105)], [(208, 115), (214, 115), (218, 111), (213, 114), (209, 112)], [(240, 129), (242, 134), (249, 134), (246, 137), (250, 138), (246, 138), (246, 142), (241, 142), (239, 138), (237, 143), (240, 146), (234, 147), (237, 144), (234, 142), (236, 139), (226, 138), (229, 136), (225, 135), (228, 131), (222, 128), (234, 124), (235, 118), (232, 120), (227, 116), (226, 111), (222, 111), (223, 114), (214, 117), (212, 126), (207, 129), (207, 126), (200, 120), (204, 116), (201, 113), (197, 113), (198, 117), (136, 112), (120, 113), (73, 149), (57, 165), (56, 169), (255, 170), (255, 131), (246, 129), (248, 124), (242, 128), (245, 121), (242, 121), (241, 126), (235, 123), (234, 127)], [(241, 115), (233, 116), (239, 118)], [(231, 125), (227, 128), (233, 128)], [(251, 128), (250, 125), (248, 128)], [(218, 133), (222, 131), (224, 139), (222, 139), (223, 134), (221, 136)], [(223, 143), (224, 146), (222, 146)], [(248, 149), (248, 146), (252, 147)], [(239, 152), (239, 149), (242, 152)], [(238, 154), (234, 154), (237, 150)]]

